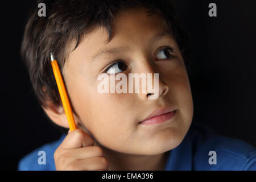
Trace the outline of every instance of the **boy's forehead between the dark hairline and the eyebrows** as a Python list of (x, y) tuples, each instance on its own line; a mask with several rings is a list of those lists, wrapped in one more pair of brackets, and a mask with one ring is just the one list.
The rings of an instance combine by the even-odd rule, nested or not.
[[(102, 50), (120, 47), (115, 51), (127, 50), (130, 46), (140, 46), (160, 36), (171, 36), (164, 18), (159, 14), (148, 15), (146, 7), (119, 11), (112, 24), (112, 39), (108, 43), (109, 33), (105, 27), (96, 27), (84, 36), (74, 52), (82, 51), (92, 60)], [(89, 60), (88, 60), (89, 61)]]

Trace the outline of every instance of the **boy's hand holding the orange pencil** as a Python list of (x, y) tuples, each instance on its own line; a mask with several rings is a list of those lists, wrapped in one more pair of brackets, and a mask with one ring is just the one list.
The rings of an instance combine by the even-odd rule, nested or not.
[(56, 170), (108, 170), (101, 147), (93, 146), (93, 138), (81, 129), (68, 133), (54, 152)]

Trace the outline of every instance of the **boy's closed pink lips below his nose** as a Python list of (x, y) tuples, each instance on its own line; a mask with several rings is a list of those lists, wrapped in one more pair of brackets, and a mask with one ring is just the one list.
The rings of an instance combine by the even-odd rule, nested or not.
[(139, 124), (156, 124), (162, 123), (174, 117), (176, 113), (175, 109), (171, 107), (163, 107), (154, 110), (148, 117), (146, 117), (143, 121), (139, 122)]

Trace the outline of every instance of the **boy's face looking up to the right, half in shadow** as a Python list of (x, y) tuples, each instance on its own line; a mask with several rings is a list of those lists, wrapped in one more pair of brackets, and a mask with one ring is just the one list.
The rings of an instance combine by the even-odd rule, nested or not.
[[(137, 7), (119, 12), (108, 44), (109, 34), (104, 28), (85, 34), (75, 51), (69, 52), (63, 68), (79, 126), (102, 146), (126, 154), (154, 155), (175, 148), (187, 133), (193, 115), (191, 89), (179, 47), (170, 34), (154, 39), (168, 29), (161, 16), (147, 16), (146, 11)], [(125, 49), (93, 60), (100, 50), (114, 47)], [(169, 47), (174, 51), (168, 52)], [(98, 75), (117, 60), (123, 69), (116, 65), (112, 68), (125, 73), (127, 79), (128, 73), (159, 73), (159, 97), (148, 100), (147, 93), (98, 93)], [(139, 123), (165, 106), (176, 109), (170, 121)]]

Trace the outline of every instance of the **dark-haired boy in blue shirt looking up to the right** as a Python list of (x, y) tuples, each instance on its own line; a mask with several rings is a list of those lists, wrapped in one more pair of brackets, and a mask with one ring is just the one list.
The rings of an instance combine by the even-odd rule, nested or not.
[[(68, 128), (50, 52), (79, 129), (28, 154), (20, 170), (255, 170), (256, 150), (191, 126), (193, 102), (183, 59), (187, 35), (169, 1), (46, 1), (22, 43), (35, 94)], [(106, 73), (158, 73), (158, 93), (99, 93)], [(117, 82), (114, 83), (115, 85)], [(142, 84), (139, 88), (142, 88)], [(38, 164), (45, 151), (45, 165)]]

